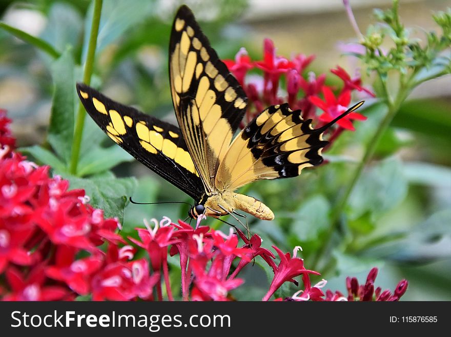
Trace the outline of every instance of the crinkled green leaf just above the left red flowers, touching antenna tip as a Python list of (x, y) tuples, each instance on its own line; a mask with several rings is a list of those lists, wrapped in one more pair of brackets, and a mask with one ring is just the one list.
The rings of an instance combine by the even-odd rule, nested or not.
[(124, 221), (124, 208), (128, 204), (128, 197), (132, 195), (137, 185), (134, 177), (92, 177), (90, 179), (64, 175), (69, 180), (71, 189), (83, 188), (91, 198), (90, 204), (104, 210), (105, 217), (118, 217), (120, 223)]

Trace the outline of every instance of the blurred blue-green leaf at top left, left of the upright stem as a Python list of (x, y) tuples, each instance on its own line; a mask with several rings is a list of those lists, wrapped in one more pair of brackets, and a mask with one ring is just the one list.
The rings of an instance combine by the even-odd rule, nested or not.
[(49, 44), (58, 50), (65, 50), (68, 45), (77, 46), (81, 39), (83, 18), (79, 12), (68, 3), (51, 5), (47, 26), (41, 34)]

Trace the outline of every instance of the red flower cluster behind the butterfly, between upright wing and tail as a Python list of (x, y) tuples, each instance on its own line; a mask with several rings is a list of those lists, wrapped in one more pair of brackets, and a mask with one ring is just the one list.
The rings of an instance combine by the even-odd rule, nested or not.
[[(276, 49), (271, 39), (263, 42), (263, 60), (253, 62), (247, 51), (241, 48), (235, 56), (235, 60), (224, 60), (229, 70), (235, 75), (238, 82), (243, 87), (250, 101), (250, 108), (247, 111), (247, 122), (259, 114), (269, 105), (282, 104), (288, 102), (292, 109), (301, 109), (304, 119), (312, 118), (316, 120), (318, 127), (332, 121), (335, 117), (344, 112), (351, 103), (351, 93), (353, 90), (363, 91), (373, 96), (374, 93), (361, 86), (360, 76), (351, 76), (341, 67), (332, 69), (331, 72), (343, 81), (343, 87), (335, 94), (332, 87), (324, 84), (325, 74), (316, 76), (309, 73), (304, 76), (305, 69), (312, 63), (315, 56), (305, 56), (298, 54), (289, 60), (283, 56), (276, 55)], [(263, 77), (258, 75), (245, 77), (249, 70), (258, 68), (263, 71)], [(279, 82), (285, 77), (286, 90), (281, 90)], [(303, 94), (299, 97), (299, 93)], [(322, 94), (324, 100), (319, 95)], [(316, 117), (316, 108), (323, 110), (323, 113)], [(366, 117), (352, 112), (338, 122), (336, 134), (331, 136), (333, 140), (343, 129), (354, 130), (351, 120), (366, 120)]]

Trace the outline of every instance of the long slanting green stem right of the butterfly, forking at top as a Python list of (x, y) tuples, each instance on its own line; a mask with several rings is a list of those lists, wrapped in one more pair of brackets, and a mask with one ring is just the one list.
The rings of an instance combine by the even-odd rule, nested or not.
[[(386, 89), (385, 82), (382, 82), (382, 86), (384, 88), (384, 92), (388, 95), (388, 90)], [(382, 137), (383, 133), (387, 129), (387, 127), (390, 125), (390, 123), (393, 120), (393, 117), (396, 115), (396, 113), (399, 110), (399, 107), (401, 103), (405, 100), (409, 93), (409, 89), (401, 86), (400, 90), (397, 93), (396, 99), (392, 103), (389, 96), (386, 96), (386, 104), (388, 107), (387, 114), (383, 118), (382, 122), (379, 124), (376, 132), (374, 133), (373, 137), (371, 138), (370, 142), (368, 143), (368, 147), (366, 148), (366, 151), (363, 155), (362, 160), (360, 161), (359, 165), (354, 171), (354, 174), (352, 176), (351, 182), (347, 185), (344, 193), (339, 197), (335, 207), (332, 209), (331, 212), (331, 226), (327, 230), (323, 245), (321, 246), (320, 250), (315, 256), (315, 259), (313, 260), (312, 268), (313, 270), (316, 270), (315, 268), (318, 268), (318, 264), (323, 257), (326, 250), (329, 248), (332, 240), (332, 236), (337, 229), (337, 226), (339, 224), (340, 216), (343, 213), (344, 208), (346, 207), (347, 201), (349, 197), (351, 196), (351, 193), (354, 189), (354, 186), (356, 185), (357, 181), (359, 180), (359, 177), (361, 176), (364, 167), (368, 162), (370, 162), (374, 151), (376, 150), (376, 146), (378, 145), (380, 138)]]

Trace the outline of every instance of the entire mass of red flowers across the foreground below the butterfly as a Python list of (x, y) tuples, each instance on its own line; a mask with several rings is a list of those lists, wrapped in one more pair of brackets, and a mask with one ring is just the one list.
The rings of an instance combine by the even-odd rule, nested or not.
[[(3, 119), (2, 119), (3, 118)], [(9, 120), (0, 118), (0, 299), (4, 301), (74, 300), (89, 295), (92, 300), (163, 300), (162, 283), (172, 301), (168, 253), (178, 255), (183, 300), (227, 301), (229, 291), (243, 283), (236, 276), (253, 259), (261, 257), (274, 271), (268, 301), (285, 282), (302, 275), (304, 290), (291, 300), (329, 301), (346, 299), (338, 291), (321, 291), (325, 281), (311, 286), (303, 260), (273, 246), (280, 258), (261, 247), (261, 238), (248, 239), (241, 231), (227, 235), (207, 226), (192, 228), (165, 217), (152, 219), (152, 226), (137, 228), (140, 240), (115, 231), (116, 219), (105, 219), (103, 211), (88, 204), (83, 190), (69, 191), (69, 182), (49, 177), (48, 166), (37, 166), (10, 152), (15, 144)], [(2, 124), (3, 123), (3, 124)], [(6, 144), (1, 143), (5, 141)], [(200, 219), (201, 220), (201, 219)], [(200, 222), (199, 220), (199, 222)], [(243, 245), (239, 246), (239, 238)], [(100, 248), (102, 247), (102, 249)], [(135, 259), (137, 248), (147, 252)], [(348, 300), (398, 300), (407, 288), (399, 283), (394, 295), (374, 290), (377, 269), (364, 286), (347, 279)], [(163, 280), (162, 280), (163, 279)], [(177, 285), (177, 288), (179, 286)]]

